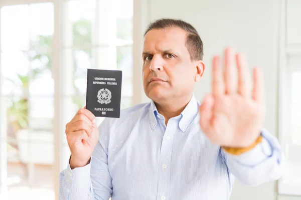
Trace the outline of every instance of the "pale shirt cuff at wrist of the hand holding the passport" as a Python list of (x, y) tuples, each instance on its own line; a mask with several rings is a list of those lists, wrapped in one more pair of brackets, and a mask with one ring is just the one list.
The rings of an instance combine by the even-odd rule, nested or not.
[(71, 169), (70, 164), (66, 168), (65, 179), (67, 183), (71, 184), (76, 189), (83, 189), (84, 191), (90, 189), (90, 169), (91, 164), (82, 167)]

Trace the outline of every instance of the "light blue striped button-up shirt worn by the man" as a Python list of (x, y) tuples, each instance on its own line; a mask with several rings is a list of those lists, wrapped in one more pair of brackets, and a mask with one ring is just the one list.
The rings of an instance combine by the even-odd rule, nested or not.
[(198, 106), (192, 95), (167, 125), (153, 101), (105, 118), (90, 163), (60, 173), (59, 199), (226, 200), (235, 177), (257, 185), (281, 176), (275, 137), (263, 129), (252, 150), (228, 154), (202, 132)]

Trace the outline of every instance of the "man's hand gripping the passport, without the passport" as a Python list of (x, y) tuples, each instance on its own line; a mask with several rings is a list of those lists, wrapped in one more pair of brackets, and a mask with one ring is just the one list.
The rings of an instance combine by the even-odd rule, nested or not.
[(73, 119), (66, 124), (65, 132), (71, 151), (71, 169), (85, 166), (89, 163), (99, 138), (94, 114), (88, 109), (79, 109)]

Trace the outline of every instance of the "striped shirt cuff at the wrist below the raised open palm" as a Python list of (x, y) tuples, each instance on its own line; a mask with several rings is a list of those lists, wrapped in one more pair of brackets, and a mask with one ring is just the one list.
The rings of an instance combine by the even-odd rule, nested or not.
[(234, 159), (241, 165), (252, 167), (261, 163), (268, 157), (271, 157), (274, 153), (275, 146), (273, 145), (272, 140), (269, 138), (266, 130), (262, 130), (261, 135), (262, 141), (247, 152), (244, 152), (240, 155), (234, 155), (224, 151), (227, 154), (227, 158)]

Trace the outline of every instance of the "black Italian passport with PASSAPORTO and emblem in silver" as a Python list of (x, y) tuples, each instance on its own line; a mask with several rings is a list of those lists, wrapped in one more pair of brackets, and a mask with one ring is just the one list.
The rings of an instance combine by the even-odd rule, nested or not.
[(88, 69), (86, 109), (95, 116), (120, 117), (121, 70)]

